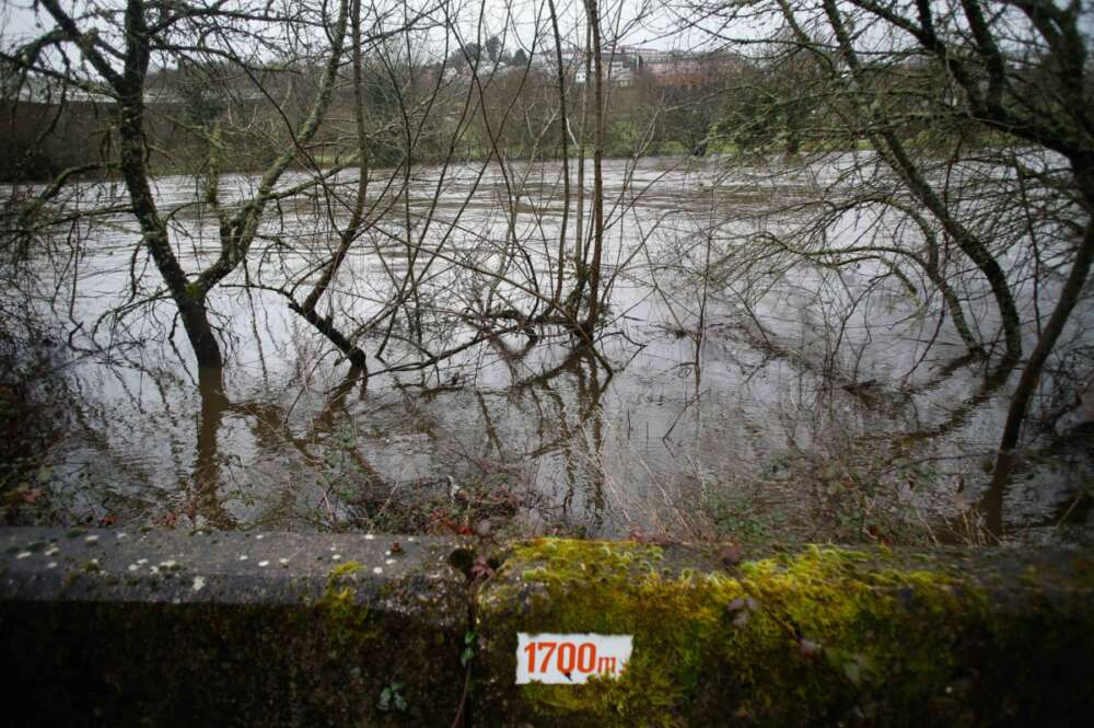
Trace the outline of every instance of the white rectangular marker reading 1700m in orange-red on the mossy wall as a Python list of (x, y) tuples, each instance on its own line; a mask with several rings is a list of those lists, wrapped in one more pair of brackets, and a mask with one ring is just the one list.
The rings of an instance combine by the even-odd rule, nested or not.
[(516, 634), (516, 684), (580, 685), (590, 675), (618, 678), (630, 660), (631, 635)]

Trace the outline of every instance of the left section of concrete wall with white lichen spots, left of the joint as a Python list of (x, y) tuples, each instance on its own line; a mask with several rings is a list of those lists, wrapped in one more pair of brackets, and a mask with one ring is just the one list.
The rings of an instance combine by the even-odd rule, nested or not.
[(3, 710), (50, 727), (447, 727), (458, 543), (394, 541), (0, 530)]

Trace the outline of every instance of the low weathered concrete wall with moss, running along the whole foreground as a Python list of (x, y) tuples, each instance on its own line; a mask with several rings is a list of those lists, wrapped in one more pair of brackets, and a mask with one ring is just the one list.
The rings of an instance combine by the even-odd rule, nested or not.
[[(397, 545), (396, 545), (397, 542)], [(27, 726), (1087, 725), (1094, 558), (0, 530)], [(481, 558), (480, 558), (481, 557)], [(517, 633), (633, 637), (515, 685)], [(15, 725), (15, 724), (12, 724)]]

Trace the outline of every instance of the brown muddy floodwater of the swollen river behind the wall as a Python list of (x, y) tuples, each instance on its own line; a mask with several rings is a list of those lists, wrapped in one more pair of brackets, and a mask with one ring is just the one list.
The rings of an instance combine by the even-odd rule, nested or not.
[[(961, 359), (948, 321), (870, 264), (834, 271), (757, 255), (742, 267), (743, 236), (791, 228), (790, 203), (835, 184), (839, 165), (775, 176), (726, 172), (717, 159), (606, 162), (612, 287), (598, 346), (612, 372), (544, 328), (537, 340), (505, 335), (361, 381), (282, 297), (243, 286), (315, 277), (348, 216), (307, 194), (271, 211), (246, 270), (211, 296), (229, 363), (199, 372), (181, 330), (170, 337), (173, 307), (147, 301), (160, 280), (133, 257), (132, 219), (73, 224), (35, 261), (35, 310), (56, 342), (53, 435), (34, 453), (35, 497), (7, 517), (428, 532), (489, 519), (503, 534), (976, 540), (970, 508), (990, 479), (1012, 382), (985, 391), (982, 365)], [(526, 308), (528, 288), (554, 286), (558, 174), (557, 164), (505, 175), (468, 165), (443, 178), (424, 169), (399, 195), (399, 173), (374, 173), (373, 223), (321, 312), (363, 332), (377, 371), (422, 358), (403, 314), (383, 360), (372, 358), (386, 325), (369, 321), (411, 261), (424, 349), (474, 336), (463, 314), (487, 299)], [(222, 186), (244, 196), (254, 184)], [(68, 204), (92, 209), (120, 193), (84, 184)], [(216, 218), (195, 181), (160, 178), (156, 194), (184, 267), (208, 264)], [(853, 241), (863, 224), (834, 234)], [(443, 256), (423, 269), (438, 246)], [(486, 271), (510, 282), (494, 286)], [(974, 288), (970, 315), (991, 331)], [(106, 315), (117, 310), (125, 315)], [(1063, 424), (1081, 430), (1094, 415), (1070, 417)], [(1090, 539), (1089, 499), (1078, 497), (1091, 482), (1085, 437), (1034, 444), (1002, 502), (1012, 538)]]

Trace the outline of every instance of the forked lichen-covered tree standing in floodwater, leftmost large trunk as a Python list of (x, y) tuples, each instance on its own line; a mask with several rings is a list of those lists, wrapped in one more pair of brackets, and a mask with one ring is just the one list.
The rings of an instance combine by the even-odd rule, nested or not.
[[(191, 5), (144, 0), (107, 7), (89, 2), (78, 4), (72, 12), (56, 0), (44, 0), (42, 8), (51, 26), (20, 47), (5, 48), (4, 59), (22, 69), (25, 78), (48, 79), (109, 100), (118, 139), (117, 170), (141, 231), (135, 255), (147, 250), (154, 262), (166, 294), (177, 307), (198, 365), (222, 366), (223, 356), (207, 310), (209, 293), (247, 257), (267, 206), (283, 194), (276, 192), (279, 181), (319, 129), (342, 60), (348, 0), (342, 0), (333, 15), (324, 10), (316, 13), (306, 4), (275, 10), (263, 3)], [(329, 42), (323, 37), (316, 46), (322, 37), (316, 31), (321, 27), (330, 28)], [(300, 55), (287, 57), (281, 46), (286, 42), (299, 47)], [(248, 78), (254, 93), (268, 95), (256, 68), (263, 56), (293, 62), (310, 55), (325, 57), (323, 72), (306, 115), (296, 124), (286, 118), (293, 143), (268, 163), (255, 194), (232, 211), (221, 205), (219, 190), (220, 169), (225, 163), (222, 127), (214, 120), (219, 109), (203, 106), (198, 127), (208, 151), (203, 201), (219, 220), (220, 252), (210, 265), (187, 273), (152, 189), (147, 112), (153, 59), (161, 65), (217, 60)], [(84, 68), (92, 72), (84, 73)], [(193, 116), (199, 111), (193, 99), (183, 99), (189, 102), (187, 114)]]

